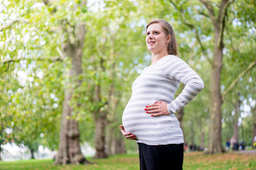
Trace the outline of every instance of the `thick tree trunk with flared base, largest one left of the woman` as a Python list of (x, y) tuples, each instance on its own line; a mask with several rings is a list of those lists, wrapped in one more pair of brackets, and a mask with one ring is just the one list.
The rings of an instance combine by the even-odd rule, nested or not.
[[(85, 26), (77, 26), (74, 35), (75, 42), (71, 43), (70, 40), (63, 40), (63, 55), (65, 55), (65, 57), (70, 57), (71, 69), (69, 71), (69, 81), (66, 81), (65, 84), (65, 100), (63, 102), (63, 113), (60, 125), (60, 143), (55, 164), (90, 163), (82, 155), (78, 121), (73, 119), (73, 108), (70, 106), (75, 87), (78, 88), (81, 84), (78, 77), (82, 74), (82, 49), (85, 32)], [(79, 105), (76, 107), (79, 107)]]

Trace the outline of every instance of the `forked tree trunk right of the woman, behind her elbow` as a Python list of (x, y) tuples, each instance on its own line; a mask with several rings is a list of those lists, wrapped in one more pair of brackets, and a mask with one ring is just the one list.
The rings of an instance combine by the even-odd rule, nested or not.
[(209, 13), (209, 18), (214, 26), (214, 53), (211, 77), (210, 77), (210, 133), (208, 141), (208, 153), (225, 152), (221, 140), (221, 105), (223, 103), (220, 93), (220, 73), (223, 67), (223, 33), (225, 28), (225, 16), (228, 6), (233, 0), (222, 0), (218, 5), (218, 14), (215, 13), (210, 1), (200, 0)]

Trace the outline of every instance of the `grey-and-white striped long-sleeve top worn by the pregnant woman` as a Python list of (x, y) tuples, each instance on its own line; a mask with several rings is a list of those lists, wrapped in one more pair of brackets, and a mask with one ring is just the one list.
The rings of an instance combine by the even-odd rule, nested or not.
[[(178, 86), (185, 87), (174, 99)], [(124, 108), (124, 130), (146, 145), (183, 143), (183, 133), (174, 113), (186, 106), (203, 89), (203, 81), (191, 67), (174, 55), (167, 55), (143, 69), (132, 84), (132, 96)], [(165, 101), (170, 115), (152, 117), (144, 108)]]

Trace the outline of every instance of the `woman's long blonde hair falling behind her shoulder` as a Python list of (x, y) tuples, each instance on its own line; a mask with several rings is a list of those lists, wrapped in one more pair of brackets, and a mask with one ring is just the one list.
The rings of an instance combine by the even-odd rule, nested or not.
[(146, 30), (153, 23), (160, 23), (161, 28), (163, 28), (163, 30), (164, 30), (165, 35), (166, 36), (171, 35), (171, 40), (167, 47), (168, 54), (169, 55), (178, 55), (178, 52), (177, 52), (178, 51), (178, 43), (176, 41), (176, 38), (174, 35), (174, 30), (173, 30), (171, 24), (167, 23), (166, 21), (164, 21), (162, 19), (154, 19), (146, 25)]

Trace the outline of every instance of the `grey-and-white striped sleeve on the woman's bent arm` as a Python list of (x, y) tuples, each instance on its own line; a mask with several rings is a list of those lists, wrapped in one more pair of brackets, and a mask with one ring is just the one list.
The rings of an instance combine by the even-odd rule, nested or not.
[(186, 62), (176, 56), (171, 56), (171, 61), (167, 62), (163, 72), (165, 77), (185, 84), (181, 94), (174, 101), (167, 104), (170, 114), (174, 114), (186, 106), (204, 88), (201, 77)]

